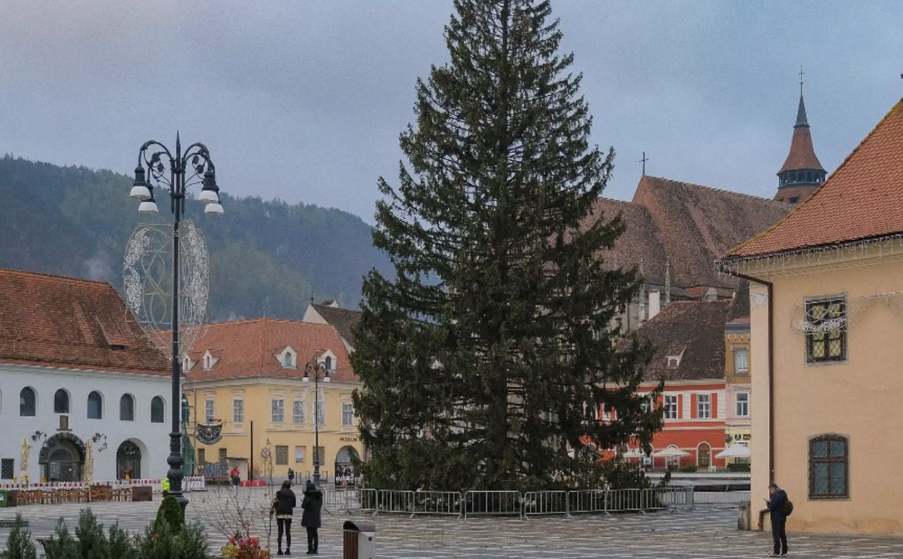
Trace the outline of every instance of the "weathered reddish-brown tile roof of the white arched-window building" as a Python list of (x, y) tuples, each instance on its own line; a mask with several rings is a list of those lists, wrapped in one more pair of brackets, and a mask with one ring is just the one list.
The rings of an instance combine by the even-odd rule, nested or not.
[(2, 268), (0, 362), (170, 374), (112, 285)]

